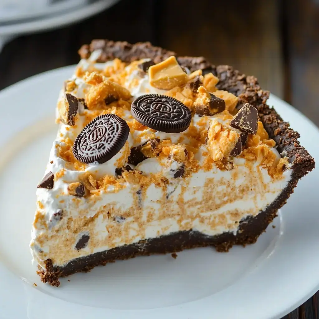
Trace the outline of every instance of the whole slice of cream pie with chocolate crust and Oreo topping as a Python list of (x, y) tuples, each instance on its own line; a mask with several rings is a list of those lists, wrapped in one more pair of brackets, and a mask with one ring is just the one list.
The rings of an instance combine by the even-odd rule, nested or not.
[(254, 243), (315, 166), (253, 76), (150, 43), (94, 40), (79, 54), (37, 189), (30, 247), (43, 282)]

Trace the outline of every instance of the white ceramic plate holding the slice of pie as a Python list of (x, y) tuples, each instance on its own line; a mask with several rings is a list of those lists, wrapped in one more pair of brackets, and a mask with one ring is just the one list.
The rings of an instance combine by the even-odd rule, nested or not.
[[(256, 244), (229, 253), (192, 249), (138, 257), (42, 284), (29, 240), (35, 186), (56, 134), (54, 111), (74, 67), (53, 70), (0, 93), (0, 318), (279, 318), (319, 289), (319, 171), (299, 183)], [(319, 131), (294, 108), (269, 100), (319, 159)], [(70, 282), (68, 281), (70, 279)], [(33, 285), (36, 284), (37, 286)]]

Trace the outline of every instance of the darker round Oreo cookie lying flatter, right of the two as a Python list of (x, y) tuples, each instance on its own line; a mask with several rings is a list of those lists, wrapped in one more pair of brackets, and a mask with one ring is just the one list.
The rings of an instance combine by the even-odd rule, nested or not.
[(192, 119), (189, 108), (182, 102), (159, 94), (137, 97), (131, 105), (131, 113), (137, 122), (166, 133), (183, 132)]

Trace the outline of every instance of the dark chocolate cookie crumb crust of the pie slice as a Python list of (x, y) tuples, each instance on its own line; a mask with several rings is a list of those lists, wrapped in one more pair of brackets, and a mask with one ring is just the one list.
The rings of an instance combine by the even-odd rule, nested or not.
[[(95, 50), (101, 54), (97, 62), (106, 62), (119, 58), (130, 63), (142, 58), (151, 58), (155, 63), (165, 60), (169, 56), (177, 56), (175, 52), (152, 46), (149, 42), (130, 44), (128, 42), (114, 42), (108, 40), (93, 40), (90, 45), (84, 45), (79, 50), (81, 58), (88, 58)], [(174, 253), (194, 247), (214, 246), (218, 251), (228, 251), (233, 245), (246, 245), (256, 242), (260, 234), (277, 216), (298, 180), (308, 174), (315, 167), (315, 160), (304, 147), (300, 146), (299, 133), (292, 130), (278, 113), (270, 108), (266, 101), (268, 91), (263, 91), (253, 76), (245, 76), (228, 65), (214, 66), (204, 57), (177, 57), (177, 61), (190, 71), (202, 69), (203, 73), (212, 72), (219, 78), (216, 87), (238, 96), (237, 108), (249, 103), (258, 110), (260, 120), (270, 138), (274, 139), (279, 153), (288, 157), (292, 175), (287, 187), (276, 200), (255, 217), (248, 217), (240, 221), (236, 235), (223, 233), (216, 236), (206, 236), (196, 231), (181, 231), (158, 238), (140, 241), (131, 245), (124, 245), (107, 251), (80, 257), (70, 261), (63, 267), (56, 267), (51, 259), (46, 260), (46, 271), (38, 271), (43, 282), (52, 286), (59, 286), (59, 277), (68, 276), (79, 271), (90, 271), (97, 265), (105, 265), (116, 259), (128, 259), (140, 255)]]

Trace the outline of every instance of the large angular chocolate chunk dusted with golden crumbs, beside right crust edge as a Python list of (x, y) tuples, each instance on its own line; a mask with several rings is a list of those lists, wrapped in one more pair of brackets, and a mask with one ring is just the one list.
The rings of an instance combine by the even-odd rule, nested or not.
[(243, 132), (256, 134), (258, 127), (257, 109), (246, 103), (231, 120), (230, 126)]

